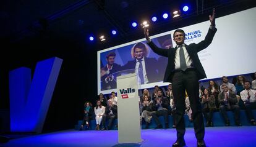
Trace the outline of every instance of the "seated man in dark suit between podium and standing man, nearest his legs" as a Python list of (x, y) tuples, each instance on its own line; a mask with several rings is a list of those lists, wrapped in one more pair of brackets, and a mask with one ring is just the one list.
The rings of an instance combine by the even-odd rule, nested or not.
[(158, 116), (164, 117), (165, 128), (169, 128), (168, 124), (168, 99), (163, 97), (163, 92), (161, 89), (157, 90), (157, 97), (153, 101), (153, 112), (151, 113), (153, 119), (155, 120), (157, 127), (155, 129), (163, 128), (161, 122), (159, 121)]

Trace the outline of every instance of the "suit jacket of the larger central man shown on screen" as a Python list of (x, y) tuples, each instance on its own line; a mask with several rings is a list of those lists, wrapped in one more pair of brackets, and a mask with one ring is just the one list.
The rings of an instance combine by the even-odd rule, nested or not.
[[(147, 77), (148, 77), (148, 83), (151, 82), (159, 82), (160, 81), (160, 76), (158, 75), (158, 62), (155, 58), (147, 58), (144, 57), (145, 59), (145, 68), (147, 72)], [(122, 66), (122, 70), (130, 70), (130, 69), (135, 69), (136, 66), (136, 59), (132, 61), (128, 61), (126, 65)]]

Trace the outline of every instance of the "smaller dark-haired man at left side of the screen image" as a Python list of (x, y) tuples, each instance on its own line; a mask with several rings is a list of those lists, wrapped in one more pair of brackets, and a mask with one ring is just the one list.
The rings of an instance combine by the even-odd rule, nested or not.
[(105, 71), (104, 74), (101, 75), (101, 90), (116, 89), (116, 75), (113, 73), (121, 70), (121, 65), (114, 63), (115, 58), (116, 54), (114, 52), (109, 52), (109, 54), (106, 55), (106, 61), (108, 63), (104, 68), (101, 69)]

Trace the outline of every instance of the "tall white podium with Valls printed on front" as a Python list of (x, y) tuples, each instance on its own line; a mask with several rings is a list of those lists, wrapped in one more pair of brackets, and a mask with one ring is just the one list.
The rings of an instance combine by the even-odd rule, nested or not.
[(117, 76), (118, 143), (139, 143), (140, 109), (137, 72), (126, 70)]

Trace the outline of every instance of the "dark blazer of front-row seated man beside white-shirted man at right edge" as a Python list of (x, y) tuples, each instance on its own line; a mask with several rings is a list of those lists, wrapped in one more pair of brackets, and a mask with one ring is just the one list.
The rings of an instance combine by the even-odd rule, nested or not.
[[(220, 105), (225, 105), (224, 98), (225, 98), (225, 94), (224, 94), (224, 92), (221, 92), (218, 96), (218, 102), (220, 103)], [(237, 103), (236, 93), (229, 91), (228, 108), (230, 108), (231, 105), (236, 105), (236, 103)]]

